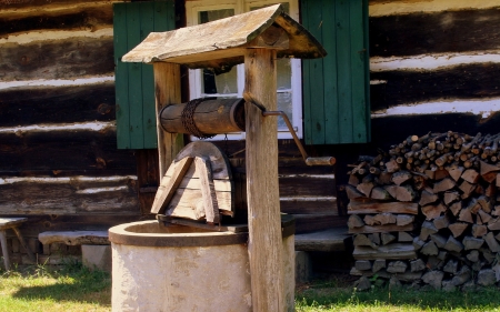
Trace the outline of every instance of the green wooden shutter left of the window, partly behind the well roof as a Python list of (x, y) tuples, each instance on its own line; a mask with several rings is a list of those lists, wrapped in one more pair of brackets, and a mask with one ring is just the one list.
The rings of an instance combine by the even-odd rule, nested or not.
[(156, 149), (152, 66), (123, 63), (121, 57), (152, 31), (176, 28), (173, 1), (113, 4), (117, 142), (119, 149)]

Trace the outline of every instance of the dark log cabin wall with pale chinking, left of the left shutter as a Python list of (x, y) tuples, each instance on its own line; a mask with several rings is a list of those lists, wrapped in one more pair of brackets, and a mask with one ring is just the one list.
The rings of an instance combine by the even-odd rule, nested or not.
[(118, 150), (112, 1), (0, 1), (0, 214), (39, 232), (141, 217)]

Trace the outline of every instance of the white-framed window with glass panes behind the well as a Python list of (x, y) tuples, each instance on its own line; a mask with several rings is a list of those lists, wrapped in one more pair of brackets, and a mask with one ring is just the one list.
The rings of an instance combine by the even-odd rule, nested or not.
[[(200, 0), (187, 1), (186, 14), (187, 26), (194, 26), (214, 21), (257, 10), (262, 7), (282, 3), (287, 13), (299, 20), (299, 4), (297, 0), (291, 1), (252, 1), (252, 0)], [(278, 109), (287, 113), (299, 138), (302, 137), (302, 84), (301, 61), (298, 59), (280, 59), (277, 62), (277, 97)], [(189, 71), (190, 99), (204, 97), (242, 98), (244, 89), (244, 66), (239, 64), (231, 71), (214, 76), (209, 70)], [(221, 140), (217, 135), (213, 140)], [(228, 133), (229, 139), (244, 139), (244, 133)], [(278, 138), (290, 139), (284, 121), (278, 119)]]

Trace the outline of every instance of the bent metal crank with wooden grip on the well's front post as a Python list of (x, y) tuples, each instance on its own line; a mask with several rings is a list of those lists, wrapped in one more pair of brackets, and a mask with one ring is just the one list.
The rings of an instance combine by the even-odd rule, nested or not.
[(243, 99), (244, 101), (254, 104), (262, 111), (263, 117), (269, 115), (280, 115), (283, 118), (284, 123), (287, 124), (288, 130), (290, 131), (290, 134), (293, 138), (293, 141), (297, 144), (297, 148), (299, 149), (300, 153), (302, 154), (302, 159), (306, 162), (307, 165), (333, 165), (336, 164), (336, 158), (333, 157), (309, 157), (306, 152), (306, 149), (303, 148), (302, 143), (300, 142), (299, 137), (297, 137), (296, 131), (293, 130), (293, 127), (288, 119), (288, 115), (283, 111), (267, 111), (266, 107), (262, 105), (259, 101), (257, 101), (253, 95), (249, 92), (243, 92)]

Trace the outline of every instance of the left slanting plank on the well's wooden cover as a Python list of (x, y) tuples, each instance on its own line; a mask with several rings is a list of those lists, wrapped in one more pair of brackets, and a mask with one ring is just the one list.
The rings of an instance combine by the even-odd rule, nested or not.
[(176, 193), (179, 184), (184, 178), (186, 172), (191, 167), (193, 158), (187, 157), (180, 161), (173, 162), (171, 168), (170, 177), (166, 175), (161, 180), (161, 184), (158, 188), (157, 195), (154, 197), (154, 202), (151, 207), (151, 213), (158, 214), (163, 213), (169, 205), (173, 194)]

